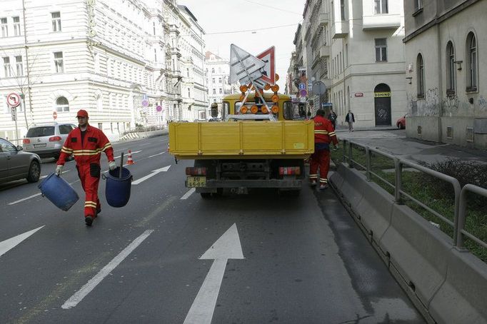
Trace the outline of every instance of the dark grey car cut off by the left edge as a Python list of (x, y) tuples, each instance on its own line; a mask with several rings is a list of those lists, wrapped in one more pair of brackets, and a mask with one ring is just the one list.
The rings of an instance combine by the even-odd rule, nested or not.
[(37, 154), (23, 152), (22, 146), (0, 138), (0, 183), (21, 178), (37, 182), (40, 176), (41, 158)]

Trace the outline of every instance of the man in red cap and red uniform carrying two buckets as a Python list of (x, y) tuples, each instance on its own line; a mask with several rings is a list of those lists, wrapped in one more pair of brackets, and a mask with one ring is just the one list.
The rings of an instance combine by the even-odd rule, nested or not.
[(81, 109), (76, 118), (78, 118), (79, 127), (74, 128), (66, 138), (57, 161), (56, 173), (58, 176), (61, 175), (64, 161), (73, 154), (81, 186), (86, 194), (84, 221), (87, 226), (91, 226), (94, 218), (101, 212), (98, 198), (101, 152), (105, 152), (109, 159), (109, 168), (114, 170), (116, 168), (114, 148), (111, 147), (111, 143), (103, 131), (89, 125), (87, 111)]

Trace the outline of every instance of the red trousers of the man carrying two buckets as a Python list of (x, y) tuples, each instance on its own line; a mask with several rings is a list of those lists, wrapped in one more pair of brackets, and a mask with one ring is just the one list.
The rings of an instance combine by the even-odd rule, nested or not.
[(101, 210), (98, 198), (98, 185), (100, 182), (100, 165), (96, 163), (86, 163), (76, 166), (78, 169), (79, 180), (85, 193), (84, 198), (84, 217), (96, 217), (96, 210)]

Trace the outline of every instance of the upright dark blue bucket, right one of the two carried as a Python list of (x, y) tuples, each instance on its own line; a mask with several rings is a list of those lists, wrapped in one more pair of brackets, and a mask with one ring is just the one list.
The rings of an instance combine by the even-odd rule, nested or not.
[(106, 178), (105, 197), (106, 202), (112, 207), (124, 207), (130, 199), (130, 188), (132, 187), (132, 175), (129, 169), (122, 168), (121, 178), (120, 167), (109, 171)]

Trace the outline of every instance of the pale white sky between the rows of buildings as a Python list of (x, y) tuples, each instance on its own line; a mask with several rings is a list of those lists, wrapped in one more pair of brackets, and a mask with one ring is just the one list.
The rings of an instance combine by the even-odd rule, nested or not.
[[(276, 47), (277, 81), (284, 91), (294, 33), (303, 20), (305, 0), (178, 0), (198, 19), (206, 51), (230, 59), (235, 44), (256, 56)], [(235, 32), (238, 31), (238, 32)]]

